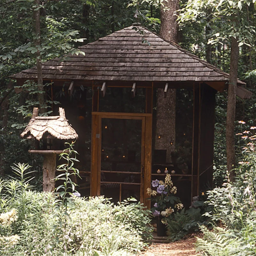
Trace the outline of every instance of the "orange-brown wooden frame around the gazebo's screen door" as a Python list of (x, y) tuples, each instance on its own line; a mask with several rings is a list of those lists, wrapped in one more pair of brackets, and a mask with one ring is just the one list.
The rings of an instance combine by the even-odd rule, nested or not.
[[(141, 129), (141, 164), (144, 165), (144, 173), (141, 172), (140, 202), (150, 208), (147, 200), (147, 188), (151, 187), (152, 168), (152, 114), (146, 113), (116, 113), (116, 112), (92, 112), (92, 154), (91, 154), (91, 196), (100, 196), (100, 160), (101, 160), (101, 119), (139, 119), (142, 121)], [(143, 153), (144, 152), (144, 153)], [(143, 177), (144, 174), (144, 177)]]

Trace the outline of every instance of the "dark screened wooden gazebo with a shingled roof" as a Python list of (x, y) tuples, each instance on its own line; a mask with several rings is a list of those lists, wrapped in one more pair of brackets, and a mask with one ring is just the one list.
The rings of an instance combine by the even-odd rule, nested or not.
[[(59, 91), (65, 92), (57, 100), (79, 134), (78, 150), (84, 160), (80, 167), (82, 194), (105, 194), (116, 200), (135, 196), (148, 205), (146, 190), (151, 180), (163, 178), (168, 168), (175, 171), (172, 179), (178, 184), (178, 194), (180, 191), (181, 199), (189, 204), (212, 184), (215, 94), (228, 88), (229, 75), (148, 29), (136, 27), (80, 47), (85, 56), (43, 63), (43, 79), (53, 83), (52, 100)], [(12, 78), (20, 85), (36, 80), (36, 68)], [(237, 82), (237, 95), (250, 97), (242, 87), (245, 83)], [(176, 127), (176, 134), (181, 132), (186, 140), (180, 142), (180, 149), (177, 146), (172, 162), (166, 161), (165, 149), (156, 150), (152, 144), (159, 88), (164, 92), (175, 88), (181, 99), (176, 101), (176, 125), (184, 125)], [(188, 91), (186, 97), (182, 96), (184, 90)], [(177, 112), (179, 102), (188, 105), (189, 124), (183, 118), (185, 110)]]

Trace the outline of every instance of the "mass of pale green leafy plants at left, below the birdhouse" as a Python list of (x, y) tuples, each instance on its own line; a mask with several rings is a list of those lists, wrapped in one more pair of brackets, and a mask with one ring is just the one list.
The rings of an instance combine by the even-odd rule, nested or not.
[(13, 166), (19, 179), (0, 179), (0, 255), (130, 256), (147, 245), (150, 211), (135, 199), (115, 205), (103, 196), (79, 197), (69, 180), (79, 174), (72, 147), (62, 155), (67, 162), (57, 179), (64, 187), (57, 192), (33, 190), (27, 164)]

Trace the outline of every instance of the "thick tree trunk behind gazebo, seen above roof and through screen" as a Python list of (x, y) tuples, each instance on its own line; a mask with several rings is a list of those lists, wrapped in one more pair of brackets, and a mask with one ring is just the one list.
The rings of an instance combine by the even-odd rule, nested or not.
[[(160, 36), (178, 43), (178, 23), (174, 12), (179, 9), (179, 0), (164, 2), (168, 9), (161, 7)], [(176, 89), (157, 90), (155, 149), (166, 149), (166, 162), (171, 163), (171, 152), (175, 150)]]

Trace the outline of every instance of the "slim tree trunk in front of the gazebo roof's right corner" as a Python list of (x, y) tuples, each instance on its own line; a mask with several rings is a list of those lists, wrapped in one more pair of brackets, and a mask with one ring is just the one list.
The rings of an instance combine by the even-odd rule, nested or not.
[[(235, 172), (235, 113), (236, 113), (236, 84), (237, 67), (239, 58), (239, 47), (237, 39), (231, 38), (231, 56), (228, 84), (228, 108), (227, 108), (227, 127), (226, 127), (226, 145), (227, 145), (227, 168), (230, 173), (230, 180), (234, 180)], [(232, 171), (233, 170), (233, 171)]]

